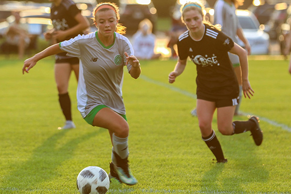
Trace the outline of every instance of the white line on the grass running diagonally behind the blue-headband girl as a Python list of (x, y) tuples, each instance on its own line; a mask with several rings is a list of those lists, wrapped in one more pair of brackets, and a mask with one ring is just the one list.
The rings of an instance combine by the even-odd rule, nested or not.
[[(179, 89), (179, 88), (177, 88), (177, 87), (175, 87), (173, 85), (163, 83), (161, 81), (152, 80), (152, 79), (146, 77), (145, 75), (141, 75), (140, 78), (145, 80), (145, 81), (148, 81), (150, 83), (154, 83), (156, 85), (160, 85), (162, 87), (169, 88), (170, 90), (176, 91), (176, 92), (181, 93), (181, 94), (183, 94), (185, 96), (193, 97), (195, 99), (197, 98), (197, 96), (195, 94), (192, 94), (192, 93), (187, 92), (185, 90)], [(253, 113), (242, 113), (242, 114), (245, 115), (245, 116), (247, 116), (247, 115), (256, 115), (256, 114), (253, 114)], [(256, 115), (256, 116), (258, 116), (258, 115)], [(269, 124), (271, 124), (271, 125), (273, 125), (275, 127), (280, 127), (280, 128), (282, 128), (284, 130), (287, 130), (288, 132), (291, 132), (291, 127), (289, 127), (289, 126), (287, 126), (285, 124), (277, 123), (277, 122), (275, 122), (273, 120), (270, 120), (268, 118), (265, 118), (265, 117), (260, 117), (260, 116), (258, 116), (258, 117), (259, 117), (259, 120), (265, 121), (265, 122), (267, 122), (267, 123), (269, 123)]]

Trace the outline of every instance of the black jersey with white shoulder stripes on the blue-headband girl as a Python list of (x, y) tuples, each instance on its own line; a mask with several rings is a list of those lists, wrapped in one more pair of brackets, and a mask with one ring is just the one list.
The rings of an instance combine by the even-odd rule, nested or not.
[(189, 56), (196, 64), (197, 97), (224, 99), (239, 96), (239, 84), (227, 54), (233, 46), (231, 38), (209, 25), (205, 25), (199, 41), (191, 38), (189, 31), (179, 36), (179, 58), (184, 60)]

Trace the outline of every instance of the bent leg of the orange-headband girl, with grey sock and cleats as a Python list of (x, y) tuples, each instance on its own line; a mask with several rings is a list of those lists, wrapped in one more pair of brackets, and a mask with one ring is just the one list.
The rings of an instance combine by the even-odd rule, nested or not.
[(113, 162), (110, 164), (110, 178), (128, 185), (136, 184), (137, 180), (129, 168), (129, 125), (125, 115), (115, 113), (110, 108), (102, 108), (96, 113), (93, 126), (108, 129), (111, 136)]

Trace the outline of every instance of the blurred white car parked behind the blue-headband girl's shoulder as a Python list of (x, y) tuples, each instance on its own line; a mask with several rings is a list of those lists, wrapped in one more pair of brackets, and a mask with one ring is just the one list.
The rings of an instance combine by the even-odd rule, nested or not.
[[(270, 37), (264, 32), (264, 26), (259, 24), (255, 15), (248, 10), (237, 10), (236, 15), (242, 27), (245, 38), (251, 46), (252, 55), (269, 54)], [(239, 38), (238, 38), (239, 39)], [(244, 48), (244, 44), (239, 39), (238, 44)]]

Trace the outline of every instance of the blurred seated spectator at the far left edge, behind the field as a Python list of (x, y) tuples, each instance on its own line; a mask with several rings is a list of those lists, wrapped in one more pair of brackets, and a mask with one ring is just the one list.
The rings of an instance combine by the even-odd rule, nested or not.
[(15, 21), (10, 24), (5, 34), (6, 42), (2, 45), (3, 49), (9, 47), (17, 48), (18, 58), (23, 59), (25, 49), (29, 46), (31, 39), (26, 23), (20, 23), (21, 16), (19, 12), (14, 12)]

